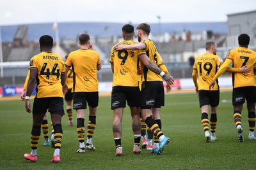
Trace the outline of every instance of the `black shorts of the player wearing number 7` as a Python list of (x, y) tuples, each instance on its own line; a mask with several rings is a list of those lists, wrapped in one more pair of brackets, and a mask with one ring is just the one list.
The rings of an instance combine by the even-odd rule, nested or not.
[(233, 92), (232, 92), (233, 106), (243, 104), (245, 102), (245, 100), (248, 103), (256, 102), (256, 87), (255, 86), (233, 88)]

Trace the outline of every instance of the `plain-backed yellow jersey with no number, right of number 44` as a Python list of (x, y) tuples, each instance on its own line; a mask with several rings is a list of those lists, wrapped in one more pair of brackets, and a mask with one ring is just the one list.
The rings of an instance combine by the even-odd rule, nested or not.
[(69, 53), (65, 65), (72, 67), (72, 92), (98, 92), (99, 80), (97, 66), (100, 65), (100, 55), (95, 50), (79, 49)]

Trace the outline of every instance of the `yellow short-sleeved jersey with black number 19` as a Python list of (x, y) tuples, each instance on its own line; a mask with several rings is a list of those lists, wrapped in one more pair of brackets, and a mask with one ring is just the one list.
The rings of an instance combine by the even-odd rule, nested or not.
[[(196, 57), (193, 74), (198, 74), (198, 90), (209, 90), (209, 84), (221, 64), (223, 64), (223, 60), (212, 53), (204, 53)], [(218, 80), (212, 90), (219, 90)]]

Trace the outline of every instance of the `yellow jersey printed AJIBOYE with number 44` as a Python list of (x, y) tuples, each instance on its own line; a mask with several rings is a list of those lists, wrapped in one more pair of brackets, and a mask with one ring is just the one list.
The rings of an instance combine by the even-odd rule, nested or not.
[(64, 61), (53, 52), (42, 52), (32, 57), (29, 69), (37, 70), (36, 97), (63, 97), (61, 74), (65, 74)]

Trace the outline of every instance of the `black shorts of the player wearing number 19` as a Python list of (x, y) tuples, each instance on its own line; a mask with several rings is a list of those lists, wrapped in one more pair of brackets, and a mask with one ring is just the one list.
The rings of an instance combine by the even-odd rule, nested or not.
[(199, 106), (217, 107), (220, 103), (220, 90), (199, 90)]

